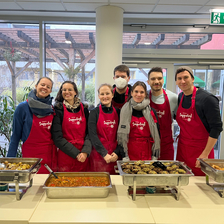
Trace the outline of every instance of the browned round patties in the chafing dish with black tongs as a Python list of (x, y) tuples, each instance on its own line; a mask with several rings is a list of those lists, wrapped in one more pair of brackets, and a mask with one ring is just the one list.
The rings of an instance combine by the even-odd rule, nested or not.
[[(127, 174), (185, 174), (186, 171), (174, 162), (164, 162), (166, 169), (153, 166), (152, 163), (145, 163), (142, 160), (125, 162), (121, 164), (122, 171)], [(172, 165), (173, 164), (173, 165)]]

